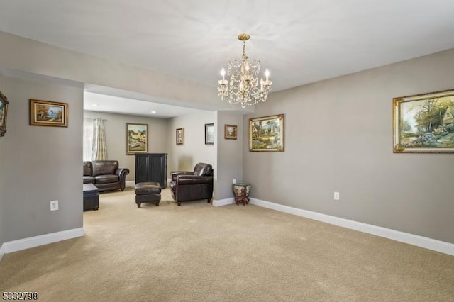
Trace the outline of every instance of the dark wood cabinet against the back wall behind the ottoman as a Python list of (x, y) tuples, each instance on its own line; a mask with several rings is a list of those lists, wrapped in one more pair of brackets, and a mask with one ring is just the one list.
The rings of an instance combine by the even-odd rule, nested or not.
[(148, 181), (167, 187), (167, 153), (135, 154), (135, 184)]

